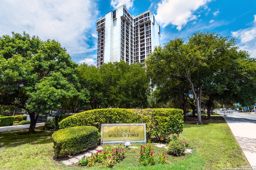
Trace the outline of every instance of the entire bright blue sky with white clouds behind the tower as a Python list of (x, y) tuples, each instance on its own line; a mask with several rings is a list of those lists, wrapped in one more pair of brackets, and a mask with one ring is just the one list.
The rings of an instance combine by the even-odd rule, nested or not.
[(161, 27), (162, 45), (196, 32), (237, 39), (256, 58), (256, 0), (0, 0), (0, 36), (11, 32), (55, 39), (76, 63), (96, 63), (96, 20), (125, 5), (132, 15), (148, 9)]

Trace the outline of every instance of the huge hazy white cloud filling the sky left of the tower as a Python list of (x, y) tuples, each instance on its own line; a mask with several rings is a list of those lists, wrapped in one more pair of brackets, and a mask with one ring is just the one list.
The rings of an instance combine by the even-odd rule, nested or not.
[(94, 0), (1, 0), (0, 36), (11, 32), (57, 40), (72, 54), (90, 51), (86, 32), (95, 31)]

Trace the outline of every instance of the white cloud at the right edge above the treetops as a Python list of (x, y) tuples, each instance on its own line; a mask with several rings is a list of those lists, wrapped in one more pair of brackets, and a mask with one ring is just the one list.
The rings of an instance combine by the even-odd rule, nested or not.
[(254, 25), (246, 29), (232, 31), (232, 36), (240, 41), (240, 49), (249, 52), (251, 57), (256, 58), (256, 15), (254, 15)]

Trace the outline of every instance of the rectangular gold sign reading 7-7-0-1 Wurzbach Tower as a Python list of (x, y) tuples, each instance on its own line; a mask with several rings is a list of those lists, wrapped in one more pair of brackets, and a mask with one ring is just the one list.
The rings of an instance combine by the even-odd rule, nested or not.
[(101, 124), (101, 145), (146, 143), (146, 123), (111, 123)]

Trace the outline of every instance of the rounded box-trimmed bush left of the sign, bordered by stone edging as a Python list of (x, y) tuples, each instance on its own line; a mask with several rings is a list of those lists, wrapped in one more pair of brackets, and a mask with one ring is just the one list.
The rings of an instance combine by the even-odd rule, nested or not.
[(98, 129), (92, 126), (78, 126), (60, 129), (52, 134), (56, 157), (76, 154), (94, 148), (98, 144)]

